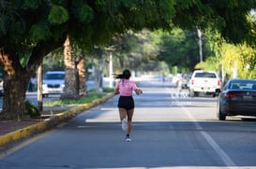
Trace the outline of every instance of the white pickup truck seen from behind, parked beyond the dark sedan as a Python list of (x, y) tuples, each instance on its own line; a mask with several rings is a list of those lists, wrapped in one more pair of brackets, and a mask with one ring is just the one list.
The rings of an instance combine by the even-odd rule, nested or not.
[(196, 70), (193, 72), (189, 83), (190, 97), (197, 96), (199, 92), (213, 94), (220, 89), (220, 79), (214, 71)]

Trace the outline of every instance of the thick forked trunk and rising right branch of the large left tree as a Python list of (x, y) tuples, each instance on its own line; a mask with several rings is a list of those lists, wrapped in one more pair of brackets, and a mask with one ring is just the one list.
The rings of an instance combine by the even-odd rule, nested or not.
[[(58, 41), (51, 39), (48, 42), (37, 43), (31, 49), (30, 56), (27, 57), (24, 57), (23, 52), (19, 51), (20, 48), (14, 46), (0, 47), (0, 64), (5, 76), (3, 109), (0, 113), (0, 119), (23, 120), (25, 116), (25, 92), (30, 78), (42, 63), (43, 57), (53, 49), (61, 47), (64, 40), (65, 38), (60, 38)], [(22, 58), (28, 58), (23, 65), (20, 62)]]

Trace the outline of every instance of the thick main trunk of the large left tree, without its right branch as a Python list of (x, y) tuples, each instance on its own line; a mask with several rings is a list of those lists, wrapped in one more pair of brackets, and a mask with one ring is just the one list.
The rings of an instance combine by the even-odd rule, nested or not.
[(22, 120), (25, 110), (25, 92), (32, 74), (23, 69), (15, 52), (0, 49), (0, 62), (4, 72), (2, 120)]

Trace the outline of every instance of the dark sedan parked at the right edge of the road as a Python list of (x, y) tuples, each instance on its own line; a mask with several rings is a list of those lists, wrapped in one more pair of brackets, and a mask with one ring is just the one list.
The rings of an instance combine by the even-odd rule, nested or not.
[(218, 92), (218, 120), (226, 120), (226, 116), (256, 116), (256, 80), (231, 79)]

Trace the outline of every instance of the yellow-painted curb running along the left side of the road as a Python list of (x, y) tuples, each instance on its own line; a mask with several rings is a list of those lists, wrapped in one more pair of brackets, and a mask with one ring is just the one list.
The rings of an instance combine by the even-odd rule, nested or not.
[(24, 127), (23, 129), (17, 130), (15, 132), (11, 132), (9, 134), (4, 134), (0, 136), (0, 148), (5, 148), (8, 146), (8, 144), (20, 141), (23, 138), (26, 138), (33, 134), (44, 132), (53, 126), (56, 126), (60, 122), (72, 118), (76, 113), (82, 112), (83, 110), (89, 109), (93, 106), (98, 106), (99, 104), (105, 102), (106, 100), (112, 98), (113, 96), (114, 96), (113, 93), (108, 93), (105, 96), (103, 96), (101, 99), (94, 100), (91, 103), (70, 108), (67, 111), (54, 115), (50, 119), (43, 120), (41, 122), (38, 122), (37, 124)]

